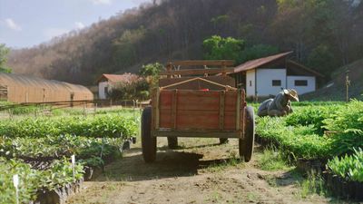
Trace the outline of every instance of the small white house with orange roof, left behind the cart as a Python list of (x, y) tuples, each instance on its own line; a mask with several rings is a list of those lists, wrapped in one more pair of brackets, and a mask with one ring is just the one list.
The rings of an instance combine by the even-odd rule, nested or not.
[(123, 74), (106, 74), (97, 80), (98, 83), (98, 97), (99, 99), (106, 99), (107, 93), (113, 89), (113, 86), (117, 83), (131, 83), (139, 78), (138, 75), (133, 73)]

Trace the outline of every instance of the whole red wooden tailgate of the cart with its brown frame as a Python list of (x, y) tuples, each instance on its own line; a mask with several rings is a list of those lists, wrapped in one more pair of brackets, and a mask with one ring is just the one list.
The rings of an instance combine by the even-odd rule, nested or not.
[(242, 90), (161, 90), (152, 94), (152, 136), (240, 138), (244, 135)]

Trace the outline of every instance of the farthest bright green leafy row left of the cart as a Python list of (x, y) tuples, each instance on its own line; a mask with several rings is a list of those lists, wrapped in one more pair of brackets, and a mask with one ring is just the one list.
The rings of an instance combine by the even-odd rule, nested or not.
[(0, 135), (7, 137), (59, 136), (73, 134), (92, 138), (129, 138), (136, 135), (137, 123), (119, 114), (104, 114), (94, 117), (26, 118), (19, 121), (2, 121)]

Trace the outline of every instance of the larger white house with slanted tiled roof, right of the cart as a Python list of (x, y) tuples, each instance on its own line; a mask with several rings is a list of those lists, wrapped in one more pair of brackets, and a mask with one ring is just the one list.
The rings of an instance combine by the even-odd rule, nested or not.
[(279, 53), (242, 63), (232, 75), (238, 87), (246, 89), (247, 97), (269, 97), (281, 89), (295, 89), (299, 94), (314, 92), (318, 79), (324, 76), (288, 59)]

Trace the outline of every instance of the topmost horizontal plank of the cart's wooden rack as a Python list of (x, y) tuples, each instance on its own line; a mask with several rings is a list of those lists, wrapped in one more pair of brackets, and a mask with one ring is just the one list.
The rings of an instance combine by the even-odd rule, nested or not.
[(174, 61), (168, 63), (174, 66), (233, 66), (233, 60), (191, 60), (191, 61)]

